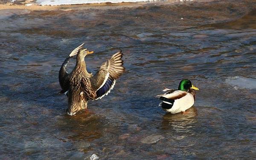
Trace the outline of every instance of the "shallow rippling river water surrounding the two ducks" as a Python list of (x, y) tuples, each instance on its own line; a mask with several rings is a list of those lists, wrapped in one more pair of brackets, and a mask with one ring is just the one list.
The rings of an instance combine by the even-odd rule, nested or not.
[[(5, 11), (0, 158), (255, 159), (253, 9), (253, 1), (222, 1)], [(108, 96), (88, 103), (89, 113), (67, 116), (58, 70), (83, 42), (95, 52), (85, 58), (88, 71), (122, 49), (126, 72)], [(166, 114), (154, 96), (183, 78), (200, 88), (195, 105)]]

